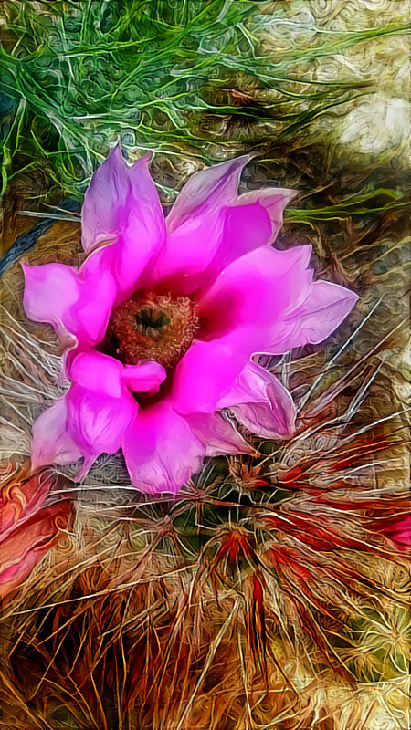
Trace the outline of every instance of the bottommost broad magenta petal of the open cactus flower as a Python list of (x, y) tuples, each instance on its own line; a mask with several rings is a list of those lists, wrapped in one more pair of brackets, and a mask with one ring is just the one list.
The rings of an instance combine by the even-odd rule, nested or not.
[(178, 492), (205, 456), (205, 446), (166, 401), (138, 412), (122, 450), (132, 484), (151, 494)]

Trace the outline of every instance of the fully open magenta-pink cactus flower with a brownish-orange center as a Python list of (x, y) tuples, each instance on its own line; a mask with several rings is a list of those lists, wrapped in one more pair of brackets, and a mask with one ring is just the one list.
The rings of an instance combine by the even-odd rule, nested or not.
[(71, 381), (32, 460), (82, 458), (82, 478), (122, 449), (133, 485), (175, 493), (206, 456), (253, 452), (225, 409), (260, 437), (292, 433), (290, 393), (253, 356), (321, 342), (357, 297), (312, 280), (311, 246), (272, 247), (295, 193), (239, 195), (247, 157), (196, 172), (165, 219), (148, 162), (116, 148), (95, 173), (79, 268), (24, 266), (26, 314), (55, 328)]

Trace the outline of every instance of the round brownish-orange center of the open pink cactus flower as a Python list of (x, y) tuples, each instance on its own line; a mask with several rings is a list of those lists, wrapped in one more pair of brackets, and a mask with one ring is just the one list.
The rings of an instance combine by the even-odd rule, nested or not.
[(149, 294), (128, 299), (114, 310), (108, 336), (111, 347), (128, 365), (156, 360), (170, 368), (190, 347), (197, 328), (191, 299)]

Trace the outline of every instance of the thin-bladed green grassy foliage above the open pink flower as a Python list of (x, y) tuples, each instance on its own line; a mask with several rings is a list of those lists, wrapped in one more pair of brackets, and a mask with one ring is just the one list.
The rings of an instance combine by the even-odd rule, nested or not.
[[(204, 130), (205, 119), (269, 120), (280, 138), (296, 134), (364, 86), (300, 79), (296, 63), (402, 31), (320, 33), (312, 47), (268, 56), (259, 50), (267, 16), (248, 0), (12, 0), (3, 13), (3, 192), (19, 172), (42, 168), (79, 199), (119, 137), (129, 151), (184, 149), (209, 161), (212, 142), (237, 151), (238, 139)], [(218, 90), (245, 79), (264, 100), (238, 105), (228, 89), (221, 103)], [(240, 133), (240, 146), (255, 137)]]

